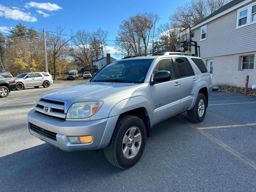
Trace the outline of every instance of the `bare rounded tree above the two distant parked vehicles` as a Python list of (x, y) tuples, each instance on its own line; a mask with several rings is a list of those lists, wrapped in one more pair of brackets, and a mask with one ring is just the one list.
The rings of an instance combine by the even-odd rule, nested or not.
[(75, 61), (80, 61), (84, 66), (90, 65), (90, 44), (92, 42), (92, 34), (85, 30), (78, 30), (74, 38), (72, 38), (74, 47), (71, 56)]

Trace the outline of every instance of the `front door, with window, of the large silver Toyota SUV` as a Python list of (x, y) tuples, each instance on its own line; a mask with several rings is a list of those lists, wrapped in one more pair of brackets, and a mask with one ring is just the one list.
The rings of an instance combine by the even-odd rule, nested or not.
[(171, 79), (151, 85), (154, 103), (154, 123), (160, 122), (182, 110), (181, 86), (176, 79), (172, 58), (158, 60), (153, 75), (158, 71), (170, 71)]

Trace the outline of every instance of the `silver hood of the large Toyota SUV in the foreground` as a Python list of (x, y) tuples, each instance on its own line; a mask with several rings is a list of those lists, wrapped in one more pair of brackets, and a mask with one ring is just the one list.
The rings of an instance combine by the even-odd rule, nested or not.
[(116, 99), (117, 96), (124, 99), (140, 86), (141, 84), (133, 83), (87, 82), (47, 92), (42, 98), (64, 102), (66, 111), (75, 102), (106, 101)]

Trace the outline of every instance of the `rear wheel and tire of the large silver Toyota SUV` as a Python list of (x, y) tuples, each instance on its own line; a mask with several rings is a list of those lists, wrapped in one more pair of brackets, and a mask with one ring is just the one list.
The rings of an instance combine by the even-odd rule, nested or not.
[(206, 98), (204, 94), (198, 94), (195, 106), (187, 111), (187, 114), (191, 122), (202, 122), (204, 120), (206, 114)]

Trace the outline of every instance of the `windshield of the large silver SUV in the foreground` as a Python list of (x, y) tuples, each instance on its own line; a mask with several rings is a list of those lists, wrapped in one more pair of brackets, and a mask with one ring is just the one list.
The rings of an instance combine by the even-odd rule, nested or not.
[(120, 60), (106, 65), (91, 81), (143, 83), (153, 59)]

